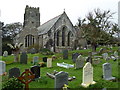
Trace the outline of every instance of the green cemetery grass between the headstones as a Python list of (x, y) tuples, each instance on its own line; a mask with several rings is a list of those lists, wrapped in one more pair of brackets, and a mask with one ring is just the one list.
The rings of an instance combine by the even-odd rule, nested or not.
[[(100, 48), (97, 48), (97, 51)], [(113, 48), (113, 51), (117, 50), (117, 47)], [(63, 60), (62, 59), (62, 53), (55, 53), (55, 55), (58, 57), (56, 60), (53, 61), (52, 63), (52, 68), (47, 68), (47, 67), (41, 67), (41, 78), (36, 80), (36, 81), (32, 81), (29, 84), (30, 88), (54, 88), (54, 79), (49, 78), (48, 76), (46, 76), (46, 73), (52, 73), (53, 70), (57, 70), (57, 71), (64, 71), (64, 72), (68, 72), (69, 77), (75, 76), (76, 79), (73, 81), (69, 81), (68, 85), (70, 88), (83, 88), (81, 86), (82, 83), (82, 68), (81, 69), (74, 69), (74, 68), (70, 68), (70, 69), (66, 69), (66, 68), (62, 68), (62, 67), (58, 67), (57, 63), (68, 63), (68, 64), (74, 64), (72, 62), (72, 53), (78, 52), (81, 53), (83, 56), (87, 56), (88, 52), (91, 51), (90, 49), (87, 50), (75, 50), (75, 51), (70, 51), (69, 52), (69, 58), (67, 60)], [(109, 53), (110, 54), (110, 53)], [(27, 69), (30, 68), (31, 66), (33, 66), (33, 64), (31, 63), (33, 56), (39, 56), (39, 62), (42, 62), (42, 57), (47, 56), (47, 57), (51, 57), (51, 55), (42, 55), (40, 53), (38, 54), (28, 54), (28, 64), (20, 64), (20, 63), (13, 63), (14, 60), (14, 56), (8, 56), (8, 57), (3, 57), (2, 59), (6, 62), (6, 72), (8, 73), (8, 70), (13, 68), (13, 67), (18, 67), (20, 68), (21, 73)], [(102, 64), (105, 63), (106, 61), (101, 59), (101, 63), (98, 65), (93, 65), (93, 79), (96, 83), (96, 85), (93, 85), (93, 87), (88, 87), (88, 88), (118, 88), (118, 85), (120, 84), (120, 75), (118, 74), (118, 61), (114, 62), (113, 60), (109, 60), (108, 62), (112, 65), (112, 76), (116, 77), (117, 79), (119, 79), (119, 83), (118, 81), (106, 81), (102, 78)], [(8, 80), (8, 74), (6, 76), (2, 76), (2, 82), (3, 84)]]

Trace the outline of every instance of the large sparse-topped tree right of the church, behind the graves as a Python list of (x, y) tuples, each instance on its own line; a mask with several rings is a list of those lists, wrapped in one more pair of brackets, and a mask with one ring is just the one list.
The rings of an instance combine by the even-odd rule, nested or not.
[[(93, 51), (96, 51), (99, 43), (106, 44), (110, 42), (110, 38), (113, 38), (109, 35), (112, 30), (110, 19), (113, 14), (110, 10), (102, 12), (100, 9), (95, 9), (93, 13), (89, 12), (85, 19), (78, 19), (77, 26), (82, 31), (82, 36), (90, 42)], [(114, 31), (112, 30), (112, 32)], [(113, 34), (111, 33), (112, 36)]]

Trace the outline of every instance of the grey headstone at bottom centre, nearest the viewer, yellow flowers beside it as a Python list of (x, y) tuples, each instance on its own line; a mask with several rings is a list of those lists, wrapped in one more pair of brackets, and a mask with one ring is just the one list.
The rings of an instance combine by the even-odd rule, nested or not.
[(68, 73), (61, 71), (55, 74), (55, 89), (61, 90), (64, 84), (68, 85)]

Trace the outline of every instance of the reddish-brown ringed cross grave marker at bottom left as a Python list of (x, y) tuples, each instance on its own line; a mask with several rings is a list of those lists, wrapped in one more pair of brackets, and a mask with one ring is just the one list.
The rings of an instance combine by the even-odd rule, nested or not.
[(35, 75), (29, 70), (25, 69), (25, 72), (21, 74), (18, 79), (25, 84), (25, 89), (29, 90), (29, 83), (35, 78)]

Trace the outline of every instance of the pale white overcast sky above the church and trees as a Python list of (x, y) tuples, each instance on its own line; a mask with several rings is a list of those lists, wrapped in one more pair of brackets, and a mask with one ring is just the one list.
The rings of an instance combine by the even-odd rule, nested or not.
[(118, 2), (120, 0), (0, 0), (0, 21), (5, 24), (21, 22), (26, 5), (40, 8), (41, 24), (62, 14), (64, 9), (75, 25), (79, 17), (84, 18), (96, 8), (116, 12), (113, 22), (118, 22)]

